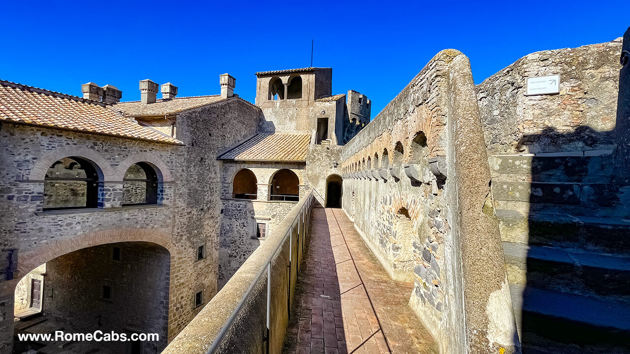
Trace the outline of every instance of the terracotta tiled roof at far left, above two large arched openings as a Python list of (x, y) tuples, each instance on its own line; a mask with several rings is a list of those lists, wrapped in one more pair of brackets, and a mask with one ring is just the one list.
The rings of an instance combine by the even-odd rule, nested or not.
[(183, 145), (100, 102), (1, 80), (0, 120)]

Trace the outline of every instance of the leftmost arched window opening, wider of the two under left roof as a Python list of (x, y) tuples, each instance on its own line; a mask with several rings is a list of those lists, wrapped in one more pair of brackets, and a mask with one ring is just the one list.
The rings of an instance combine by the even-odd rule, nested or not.
[(95, 164), (81, 157), (64, 157), (56, 161), (44, 178), (43, 209), (98, 207), (99, 172)]

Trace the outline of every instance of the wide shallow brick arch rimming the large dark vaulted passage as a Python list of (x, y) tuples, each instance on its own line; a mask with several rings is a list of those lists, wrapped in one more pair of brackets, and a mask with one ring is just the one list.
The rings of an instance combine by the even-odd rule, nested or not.
[(18, 255), (18, 271), (20, 275), (23, 275), (64, 254), (92, 246), (120, 242), (150, 242), (166, 248), (171, 255), (175, 254), (171, 234), (162, 229), (106, 229), (64, 237), (64, 239), (42, 244), (30, 251), (21, 253)]

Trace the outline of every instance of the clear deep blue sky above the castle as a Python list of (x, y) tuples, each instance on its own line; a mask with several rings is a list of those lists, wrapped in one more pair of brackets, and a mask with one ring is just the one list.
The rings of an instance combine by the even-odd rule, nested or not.
[(219, 93), (219, 74), (255, 96), (256, 71), (333, 67), (333, 94), (355, 89), (372, 117), (442, 49), (471, 60), (476, 83), (531, 52), (621, 37), (628, 1), (5, 1), (0, 79), (81, 95), (170, 81), (178, 96)]

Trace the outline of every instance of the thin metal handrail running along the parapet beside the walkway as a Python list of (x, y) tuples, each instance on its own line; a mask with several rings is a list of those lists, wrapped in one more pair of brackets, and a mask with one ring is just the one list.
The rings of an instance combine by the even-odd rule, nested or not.
[[(277, 256), (278, 251), (280, 251), (280, 248), (282, 248), (282, 245), (284, 245), (285, 241), (287, 240), (287, 237), (292, 234), (293, 228), (295, 226), (295, 221), (299, 217), (302, 216), (302, 212), (304, 211), (304, 206), (306, 205), (307, 210), (311, 208), (312, 198), (313, 198), (313, 191), (311, 190), (304, 198), (304, 204), (301, 205), (300, 212), (298, 212), (297, 215), (295, 215), (293, 221), (291, 222), (291, 227), (289, 227), (289, 229), (285, 232), (284, 236), (282, 236), (282, 240), (280, 240), (280, 242), (278, 243), (278, 246), (276, 246), (276, 248), (273, 250), (273, 253), (270, 254), (269, 258), (266, 260), (265, 262), (266, 266), (262, 267), (260, 271), (258, 271), (254, 280), (251, 282), (251, 284), (249, 284), (249, 287), (247, 288), (245, 294), (243, 294), (243, 298), (238, 303), (238, 305), (236, 305), (236, 309), (234, 309), (229, 319), (227, 319), (226, 324), (223, 326), (223, 328), (221, 328), (221, 331), (219, 331), (219, 334), (217, 334), (217, 338), (215, 338), (214, 341), (212, 341), (212, 345), (210, 345), (210, 348), (206, 352), (207, 354), (213, 354), (215, 353), (215, 351), (217, 351), (217, 349), (219, 349), (219, 346), (221, 345), (223, 338), (226, 336), (227, 331), (229, 331), (229, 329), (232, 327), (232, 324), (234, 324), (234, 321), (236, 321), (236, 317), (238, 317), (239, 313), (241, 312), (241, 309), (243, 308), (243, 305), (249, 298), (249, 295), (251, 294), (251, 292), (254, 290), (254, 287), (256, 287), (256, 285), (260, 281), (260, 278), (265, 273), (265, 270), (267, 271), (267, 314), (266, 314), (266, 327), (267, 328), (266, 328), (265, 341), (266, 341), (266, 346), (268, 348), (269, 329), (270, 329), (270, 306), (271, 306), (271, 291), (270, 291), (271, 290), (271, 265), (272, 265), (273, 259)], [(304, 233), (304, 236), (306, 237), (306, 232)], [(299, 234), (298, 234), (298, 237), (299, 237)], [(302, 246), (302, 248), (303, 247), (304, 246)], [(289, 248), (291, 249), (292, 245), (289, 245)], [(291, 284), (289, 282), (289, 288), (290, 286)]]

